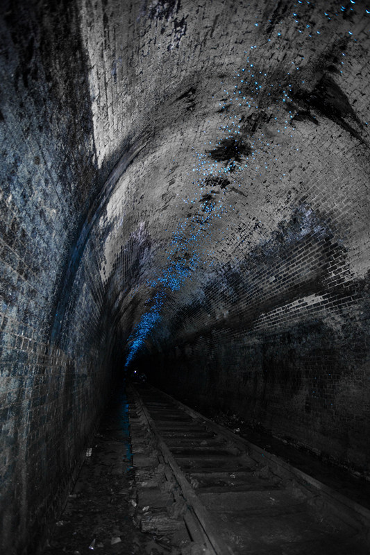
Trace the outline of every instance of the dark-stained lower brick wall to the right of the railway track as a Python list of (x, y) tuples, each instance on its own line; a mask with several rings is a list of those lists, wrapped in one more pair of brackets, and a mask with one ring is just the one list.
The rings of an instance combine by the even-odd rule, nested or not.
[[(369, 276), (353, 279), (342, 245), (322, 230), (289, 241), (297, 216), (251, 253), (244, 279), (230, 269), (217, 325), (207, 321), (219, 282), (176, 314), (177, 341), (140, 368), (178, 398), (368, 475)], [(178, 338), (184, 320), (194, 332)]]

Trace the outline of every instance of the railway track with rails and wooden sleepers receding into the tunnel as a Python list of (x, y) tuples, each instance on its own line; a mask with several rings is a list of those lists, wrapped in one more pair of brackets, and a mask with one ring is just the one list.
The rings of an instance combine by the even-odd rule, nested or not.
[(369, 555), (370, 511), (149, 384), (128, 388), (135, 519), (181, 555)]

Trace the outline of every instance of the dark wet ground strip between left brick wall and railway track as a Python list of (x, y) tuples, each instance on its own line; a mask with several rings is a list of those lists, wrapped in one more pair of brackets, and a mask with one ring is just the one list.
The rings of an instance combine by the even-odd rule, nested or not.
[(133, 524), (134, 484), (124, 391), (112, 395), (91, 447), (43, 555), (162, 554), (153, 538)]

